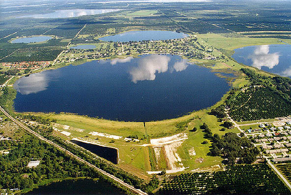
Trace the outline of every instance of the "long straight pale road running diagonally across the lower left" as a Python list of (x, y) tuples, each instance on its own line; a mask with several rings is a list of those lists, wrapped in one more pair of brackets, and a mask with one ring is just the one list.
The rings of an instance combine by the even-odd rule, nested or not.
[(60, 147), (59, 145), (55, 144), (54, 142), (52, 142), (52, 141), (50, 141), (50, 140), (44, 138), (43, 136), (39, 135), (38, 133), (34, 132), (33, 130), (30, 130), (28, 127), (26, 127), (25, 125), (23, 125), (21, 122), (17, 121), (17, 120), (14, 119), (13, 117), (11, 117), (11, 116), (10, 116), (10, 115), (9, 115), (9, 114), (8, 114), (8, 113), (7, 113), (7, 112), (6, 112), (2, 107), (1, 107), (1, 106), (0, 106), (0, 110), (1, 110), (1, 111), (2, 111), (2, 112), (3, 112), (3, 113), (4, 113), (4, 114), (9, 118), (9, 119), (11, 119), (14, 123), (16, 123), (18, 126), (20, 126), (20, 127), (22, 127), (23, 129), (29, 131), (30, 133), (32, 133), (33, 135), (35, 135), (35, 136), (38, 137), (39, 139), (44, 140), (44, 141), (46, 141), (47, 143), (54, 145), (55, 147), (57, 147), (57, 148), (60, 149), (61, 151), (64, 151), (66, 154), (68, 154), (68, 155), (70, 155), (70, 156), (76, 158), (77, 160), (79, 160), (79, 161), (81, 161), (81, 162), (86, 163), (86, 164), (87, 164), (88, 166), (90, 166), (90, 167), (93, 167), (93, 168), (97, 169), (98, 171), (100, 171), (100, 172), (103, 173), (104, 175), (106, 175), (106, 176), (112, 178), (113, 180), (115, 180), (116, 182), (118, 182), (119, 184), (121, 184), (122, 186), (125, 186), (125, 187), (127, 187), (128, 189), (130, 189), (131, 191), (133, 191), (133, 192), (135, 192), (135, 193), (137, 193), (137, 194), (139, 194), (139, 195), (147, 195), (145, 192), (143, 192), (143, 191), (141, 191), (141, 190), (139, 190), (139, 189), (135, 189), (133, 186), (128, 185), (127, 183), (124, 183), (122, 180), (116, 178), (115, 176), (113, 176), (113, 175), (111, 175), (111, 174), (105, 172), (104, 170), (102, 170), (102, 169), (100, 169), (100, 168), (94, 166), (93, 164), (90, 164), (90, 163), (87, 162), (87, 161), (84, 161), (83, 159), (81, 159), (80, 157), (74, 155), (74, 154), (71, 153), (70, 151), (68, 151), (68, 150), (66, 150), (66, 149), (64, 149), (64, 148), (62, 148), (62, 147)]

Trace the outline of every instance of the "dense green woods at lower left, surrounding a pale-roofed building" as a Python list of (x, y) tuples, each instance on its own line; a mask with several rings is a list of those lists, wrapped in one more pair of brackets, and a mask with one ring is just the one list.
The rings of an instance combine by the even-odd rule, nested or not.
[[(99, 177), (99, 173), (56, 147), (31, 135), (18, 141), (1, 140), (0, 147), (11, 149), (9, 154), (0, 156), (0, 187), (31, 188), (40, 181), (54, 178)], [(27, 167), (30, 160), (39, 160), (37, 167)]]

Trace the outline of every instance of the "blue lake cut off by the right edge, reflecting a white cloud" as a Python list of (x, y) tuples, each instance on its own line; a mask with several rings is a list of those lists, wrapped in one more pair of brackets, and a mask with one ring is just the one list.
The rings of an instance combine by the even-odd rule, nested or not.
[(234, 51), (232, 58), (239, 63), (291, 78), (291, 45), (247, 46)]

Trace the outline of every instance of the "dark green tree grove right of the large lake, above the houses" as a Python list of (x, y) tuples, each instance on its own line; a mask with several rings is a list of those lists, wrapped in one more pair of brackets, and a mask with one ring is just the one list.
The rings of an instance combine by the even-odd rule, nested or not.
[(241, 71), (248, 76), (252, 86), (230, 93), (225, 101), (234, 120), (269, 119), (291, 114), (291, 79), (262, 76), (248, 68), (241, 68)]

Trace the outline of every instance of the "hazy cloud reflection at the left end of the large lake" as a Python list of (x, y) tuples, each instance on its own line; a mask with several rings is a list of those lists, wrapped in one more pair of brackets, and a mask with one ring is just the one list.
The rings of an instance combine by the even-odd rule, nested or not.
[(22, 95), (29, 95), (46, 90), (48, 87), (48, 81), (46, 74), (35, 73), (30, 74), (29, 77), (22, 77), (14, 84), (14, 88)]

